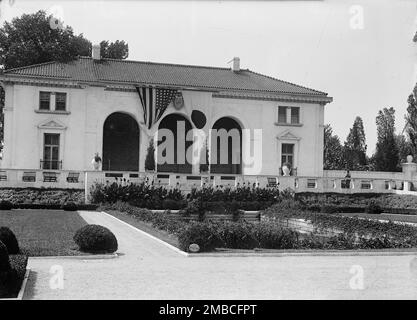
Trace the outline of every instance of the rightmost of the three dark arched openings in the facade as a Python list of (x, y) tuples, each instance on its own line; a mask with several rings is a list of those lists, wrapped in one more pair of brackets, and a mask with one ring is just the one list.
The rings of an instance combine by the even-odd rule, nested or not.
[(210, 172), (242, 174), (242, 128), (232, 118), (220, 118), (213, 125)]

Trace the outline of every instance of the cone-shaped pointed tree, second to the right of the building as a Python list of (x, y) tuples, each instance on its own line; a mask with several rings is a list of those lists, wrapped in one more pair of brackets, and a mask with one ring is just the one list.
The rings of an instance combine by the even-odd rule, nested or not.
[(366, 138), (361, 117), (356, 117), (353, 126), (349, 131), (343, 148), (344, 164), (350, 170), (365, 170), (367, 165), (366, 158)]

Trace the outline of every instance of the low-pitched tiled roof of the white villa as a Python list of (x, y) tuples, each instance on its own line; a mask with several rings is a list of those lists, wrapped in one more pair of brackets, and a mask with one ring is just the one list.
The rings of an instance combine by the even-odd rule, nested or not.
[(232, 72), (229, 68), (118, 59), (94, 61), (90, 57), (80, 57), (67, 63), (52, 61), (9, 69), (4, 71), (4, 76), (327, 97), (327, 93), (268, 77), (248, 69)]

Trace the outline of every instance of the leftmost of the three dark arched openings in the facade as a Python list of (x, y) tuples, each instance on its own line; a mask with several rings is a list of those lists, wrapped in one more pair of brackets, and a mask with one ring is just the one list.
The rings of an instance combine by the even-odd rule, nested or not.
[(139, 125), (128, 114), (109, 115), (103, 128), (103, 170), (139, 171)]

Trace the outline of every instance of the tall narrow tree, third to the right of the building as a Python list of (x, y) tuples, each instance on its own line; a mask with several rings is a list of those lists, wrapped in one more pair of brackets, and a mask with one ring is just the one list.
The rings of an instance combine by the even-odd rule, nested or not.
[(395, 139), (395, 110), (384, 108), (376, 117), (377, 143), (374, 155), (375, 170), (397, 171), (399, 150)]

